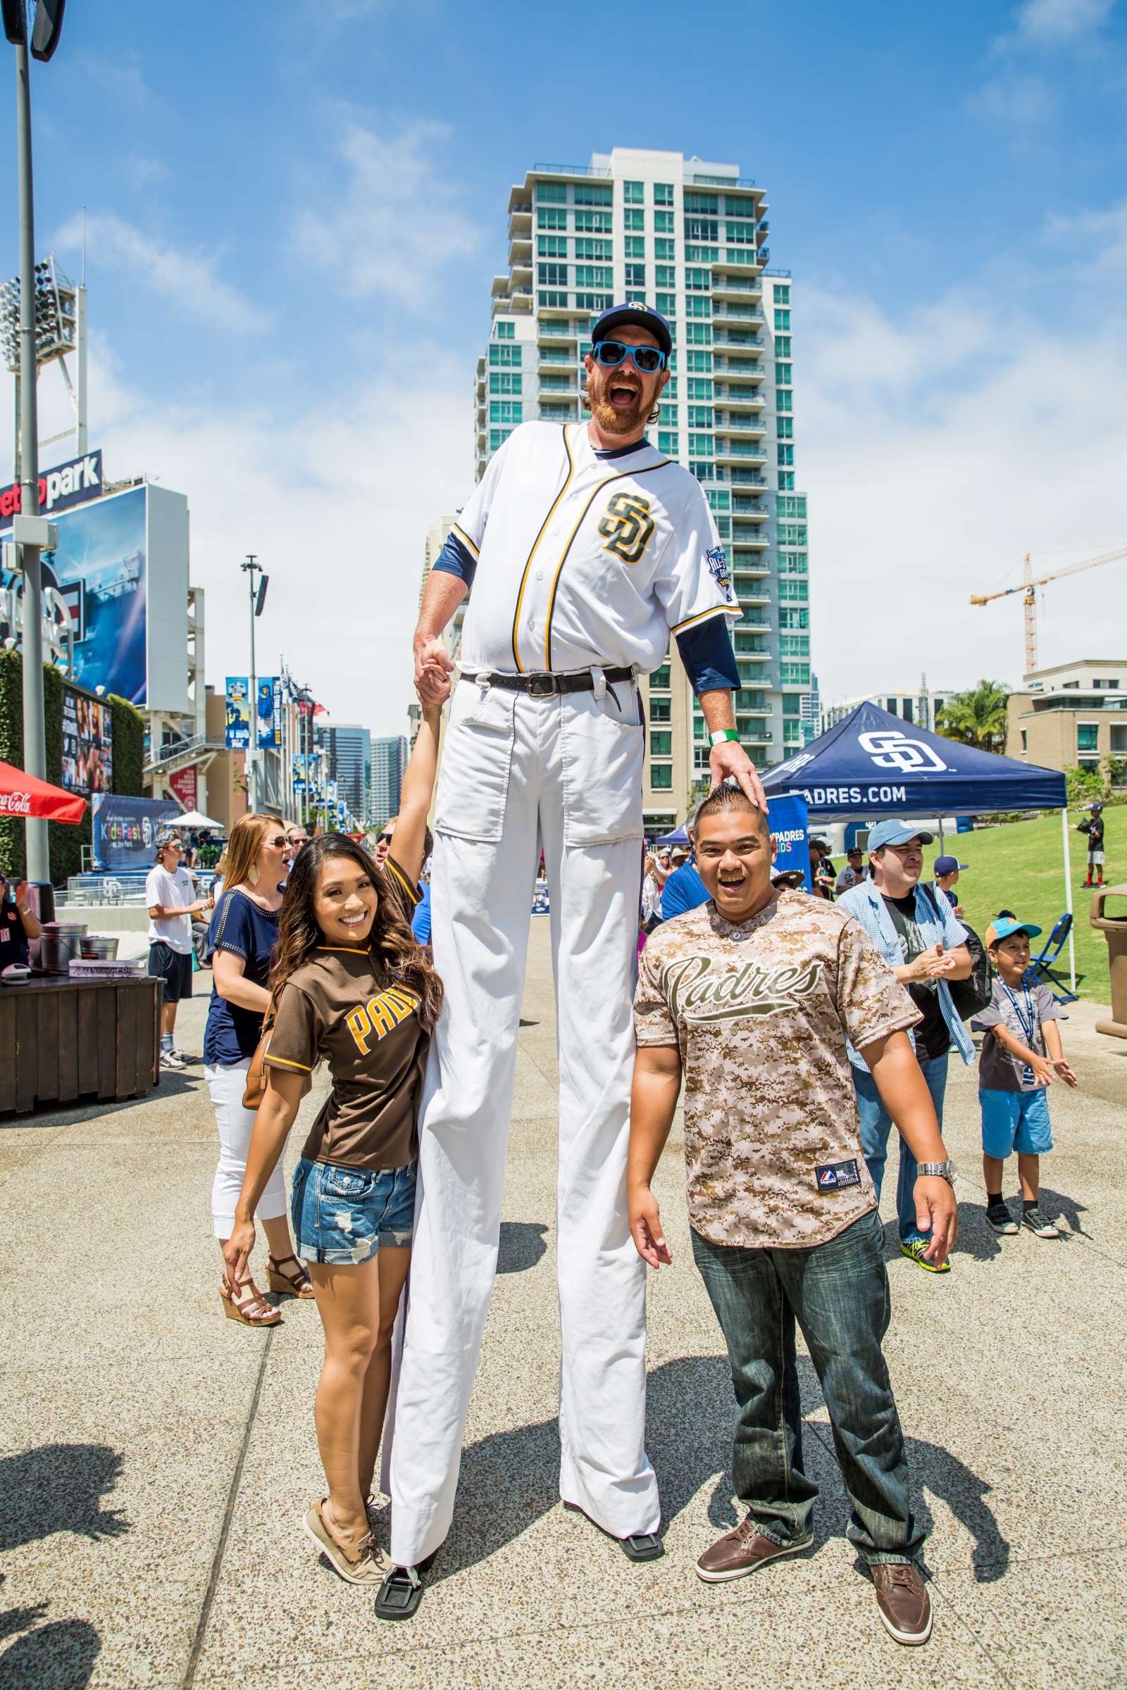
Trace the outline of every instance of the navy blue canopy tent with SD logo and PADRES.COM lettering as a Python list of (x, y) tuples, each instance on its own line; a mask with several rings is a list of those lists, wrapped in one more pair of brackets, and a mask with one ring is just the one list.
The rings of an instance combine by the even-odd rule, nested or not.
[[(767, 798), (798, 793), (811, 821), (880, 816), (977, 816), (999, 810), (1059, 810), (1064, 909), (1073, 911), (1064, 776), (929, 733), (863, 703), (764, 774)], [(1068, 962), (1076, 990), (1071, 926)]]

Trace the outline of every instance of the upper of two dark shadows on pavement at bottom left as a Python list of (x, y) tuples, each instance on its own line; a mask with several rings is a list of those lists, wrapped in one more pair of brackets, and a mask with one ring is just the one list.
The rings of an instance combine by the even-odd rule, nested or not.
[(105, 1443), (44, 1443), (0, 1460), (0, 1551), (56, 1531), (118, 1538), (128, 1531), (120, 1509), (101, 1497), (117, 1484), (123, 1458)]

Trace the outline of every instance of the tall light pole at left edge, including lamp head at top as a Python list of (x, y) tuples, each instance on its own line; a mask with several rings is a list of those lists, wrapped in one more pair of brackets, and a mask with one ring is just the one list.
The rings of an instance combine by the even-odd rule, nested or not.
[[(39, 0), (34, 8), (30, 54), (52, 57), (63, 30), (66, 0)], [(20, 179), (20, 514), (12, 521), (17, 568), (24, 571), (24, 769), (47, 779), (42, 703), (42, 570), (39, 554), (52, 544), (39, 515), (39, 414), (35, 406), (35, 204), (32, 189), (32, 90), (24, 0), (0, 0), (3, 34), (15, 47), (15, 135)], [(29, 816), (25, 875), (51, 879), (47, 823)]]

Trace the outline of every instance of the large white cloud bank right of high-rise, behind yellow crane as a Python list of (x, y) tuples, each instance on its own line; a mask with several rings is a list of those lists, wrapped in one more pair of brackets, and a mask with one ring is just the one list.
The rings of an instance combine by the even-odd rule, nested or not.
[[(904, 319), (796, 294), (823, 696), (916, 686), (921, 671), (936, 688), (1015, 684), (1017, 595), (985, 608), (970, 595), (1019, 580), (1026, 551), (1048, 571), (1127, 544), (1127, 208), (1073, 223), (1090, 250), (1037, 272), (1053, 301), (1039, 319), (1002, 287)], [(1122, 654), (1127, 563), (1043, 590), (1039, 635), (1043, 664)]]

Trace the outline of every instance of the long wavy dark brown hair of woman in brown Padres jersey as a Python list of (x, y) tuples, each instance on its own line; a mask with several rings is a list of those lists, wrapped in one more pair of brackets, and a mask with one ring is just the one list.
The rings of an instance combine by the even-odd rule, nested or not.
[(277, 999), (291, 973), (309, 960), (318, 945), (324, 943), (313, 901), (326, 857), (346, 857), (355, 862), (377, 889), (378, 904), (368, 935), (368, 950), (384, 963), (395, 985), (406, 985), (417, 995), (419, 1021), (424, 1031), (431, 1033), (443, 1007), (443, 982), (411, 931), (402, 913), (399, 887), (346, 833), (318, 833), (316, 838), (301, 847), (294, 859), (277, 923), (270, 990)]

